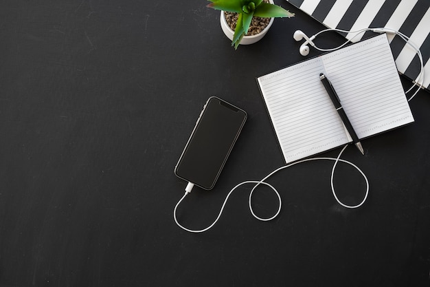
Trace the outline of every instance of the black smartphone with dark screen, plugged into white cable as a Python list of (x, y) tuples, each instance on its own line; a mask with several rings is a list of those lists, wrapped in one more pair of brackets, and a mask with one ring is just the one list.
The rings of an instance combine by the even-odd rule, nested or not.
[(246, 120), (244, 110), (220, 98), (209, 98), (174, 173), (198, 187), (212, 189)]

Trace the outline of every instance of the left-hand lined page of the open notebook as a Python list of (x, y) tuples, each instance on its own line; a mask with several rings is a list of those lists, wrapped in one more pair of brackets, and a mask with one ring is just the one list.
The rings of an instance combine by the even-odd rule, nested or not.
[(258, 78), (286, 162), (349, 142), (319, 73), (320, 58)]

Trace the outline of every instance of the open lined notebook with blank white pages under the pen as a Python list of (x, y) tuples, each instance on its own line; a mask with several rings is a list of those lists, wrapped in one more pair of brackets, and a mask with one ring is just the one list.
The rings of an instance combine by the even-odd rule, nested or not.
[(381, 34), (257, 78), (285, 162), (352, 141), (321, 72), (360, 139), (414, 122), (387, 36)]

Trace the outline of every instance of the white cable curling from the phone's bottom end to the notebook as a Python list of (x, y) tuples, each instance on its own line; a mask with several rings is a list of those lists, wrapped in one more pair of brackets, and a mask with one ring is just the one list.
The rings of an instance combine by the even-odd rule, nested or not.
[[(348, 145), (346, 145), (345, 147), (343, 147), (343, 149), (340, 151), (339, 156), (337, 156), (337, 158), (307, 158), (307, 159), (304, 159), (304, 160), (299, 160), (297, 162), (293, 162), (291, 164), (287, 164), (287, 165), (285, 165), (283, 167), (280, 167), (278, 169), (275, 169), (274, 171), (272, 171), (271, 173), (269, 173), (266, 177), (264, 177), (262, 180), (259, 180), (259, 181), (249, 180), (249, 181), (245, 181), (245, 182), (240, 182), (240, 184), (237, 184), (236, 187), (234, 187), (233, 189), (231, 189), (229, 191), (229, 193), (227, 193), (227, 196), (226, 196), (226, 198), (224, 200), (223, 206), (221, 206), (221, 209), (220, 209), (220, 211), (218, 213), (218, 216), (216, 217), (216, 219), (214, 220), (214, 222), (212, 222), (212, 224), (210, 224), (210, 226), (207, 226), (206, 228), (199, 229), (199, 230), (194, 230), (194, 229), (186, 228), (186, 227), (182, 226), (178, 222), (178, 220), (177, 220), (177, 209), (178, 209), (179, 204), (181, 204), (181, 202), (188, 195), (188, 193), (191, 192), (192, 187), (194, 187), (194, 184), (192, 184), (191, 182), (188, 182), (187, 187), (185, 188), (185, 194), (182, 196), (182, 198), (179, 200), (179, 202), (176, 204), (176, 206), (174, 206), (174, 211), (173, 211), (174, 222), (176, 222), (176, 224), (179, 227), (181, 227), (183, 230), (191, 232), (191, 233), (203, 233), (203, 232), (209, 230), (220, 219), (221, 214), (223, 213), (223, 210), (225, 208), (225, 204), (227, 204), (227, 200), (229, 199), (231, 193), (233, 193), (233, 191), (235, 191), (238, 187), (241, 187), (242, 185), (245, 185), (245, 184), (255, 184), (254, 187), (251, 189), (251, 193), (249, 193), (249, 210), (251, 211), (251, 214), (253, 215), (253, 217), (256, 217), (256, 219), (261, 220), (261, 221), (273, 220), (275, 217), (277, 217), (279, 215), (279, 213), (281, 211), (281, 205), (282, 205), (281, 196), (280, 196), (280, 193), (275, 189), (275, 187), (273, 187), (271, 184), (267, 183), (266, 180), (269, 179), (271, 176), (273, 176), (273, 174), (277, 173), (278, 171), (281, 171), (282, 169), (287, 169), (288, 167), (292, 167), (295, 164), (299, 164), (299, 163), (302, 163), (302, 162), (309, 162), (309, 161), (312, 161), (312, 160), (334, 160), (335, 161), (335, 164), (333, 164), (333, 167), (332, 167), (332, 172), (331, 172), (331, 177), (330, 177), (332, 194), (335, 197), (335, 200), (341, 206), (343, 206), (343, 207), (345, 207), (347, 209), (357, 209), (360, 206), (362, 206), (364, 204), (365, 200), (367, 199), (367, 195), (369, 194), (369, 181), (367, 180), (367, 177), (365, 176), (365, 174), (363, 173), (363, 171), (361, 171), (361, 169), (359, 169), (359, 167), (357, 167), (357, 165), (353, 164), (352, 162), (349, 162), (348, 160), (342, 160), (340, 158), (341, 154), (346, 149), (346, 147), (348, 147)], [(335, 168), (336, 168), (338, 162), (344, 162), (346, 164), (350, 164), (352, 167), (354, 167), (355, 169), (357, 169), (357, 171), (359, 171), (359, 173), (361, 173), (361, 176), (363, 176), (363, 178), (365, 180), (365, 183), (366, 183), (365, 195), (364, 195), (363, 200), (359, 204), (357, 204), (357, 205), (344, 204), (343, 202), (341, 202), (339, 200), (339, 198), (336, 195), (335, 186), (334, 186), (333, 182), (334, 182)], [(253, 192), (256, 190), (256, 188), (258, 186), (260, 186), (260, 184), (264, 184), (267, 187), (270, 187), (273, 190), (273, 192), (278, 196), (278, 202), (279, 202), (278, 211), (276, 211), (275, 215), (273, 215), (273, 216), (271, 216), (269, 218), (259, 217), (258, 215), (256, 215), (256, 213), (253, 211), (253, 208), (252, 208), (252, 204), (251, 204), (252, 195), (253, 195)]]

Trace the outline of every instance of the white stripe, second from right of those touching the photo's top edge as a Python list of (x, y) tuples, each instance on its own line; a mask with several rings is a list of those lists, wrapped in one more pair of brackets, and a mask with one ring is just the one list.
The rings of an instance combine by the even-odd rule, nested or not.
[[(378, 14), (379, 10), (381, 10), (384, 2), (385, 0), (370, 0), (367, 2), (366, 6), (363, 8), (363, 11), (361, 11), (359, 18), (357, 18), (357, 21), (355, 21), (350, 30), (357, 31), (363, 28), (369, 28), (373, 19), (376, 17), (376, 14)], [(352, 42), (358, 42), (363, 37), (364, 33), (365, 31), (359, 34), (348, 33), (348, 35), (346, 35), (346, 39), (350, 40), (352, 37), (354, 37)]]

